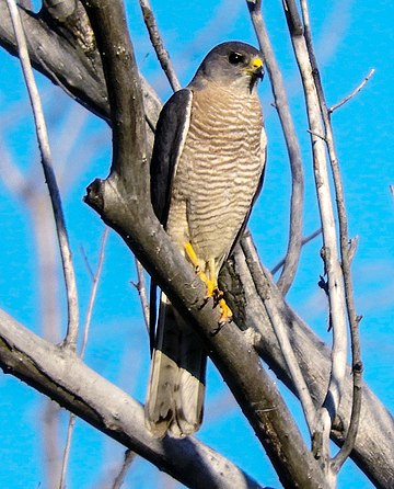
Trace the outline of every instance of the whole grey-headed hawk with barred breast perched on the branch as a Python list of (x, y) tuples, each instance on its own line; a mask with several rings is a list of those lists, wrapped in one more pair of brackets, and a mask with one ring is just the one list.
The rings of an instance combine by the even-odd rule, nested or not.
[[(150, 166), (153, 211), (220, 307), (222, 264), (240, 240), (260, 191), (267, 139), (257, 84), (263, 55), (232, 41), (213, 47), (190, 83), (159, 116)], [(152, 360), (144, 405), (153, 436), (184, 437), (201, 425), (207, 353), (197, 333), (151, 286)], [(153, 325), (157, 322), (157, 325)]]

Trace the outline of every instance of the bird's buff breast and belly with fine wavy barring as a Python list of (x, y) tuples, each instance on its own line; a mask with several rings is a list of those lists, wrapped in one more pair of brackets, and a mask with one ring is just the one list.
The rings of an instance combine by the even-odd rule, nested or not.
[(264, 166), (256, 93), (195, 91), (188, 134), (173, 182), (167, 232), (189, 239), (201, 261), (227, 258)]

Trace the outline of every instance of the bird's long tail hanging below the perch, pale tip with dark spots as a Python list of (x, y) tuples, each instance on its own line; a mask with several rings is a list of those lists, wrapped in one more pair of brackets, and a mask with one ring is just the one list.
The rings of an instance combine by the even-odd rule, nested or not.
[(199, 429), (206, 366), (200, 340), (162, 293), (144, 408), (154, 436), (182, 437)]

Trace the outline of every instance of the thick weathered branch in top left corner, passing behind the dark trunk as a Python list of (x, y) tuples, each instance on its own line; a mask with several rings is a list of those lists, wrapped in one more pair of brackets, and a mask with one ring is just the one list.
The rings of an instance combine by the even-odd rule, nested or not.
[[(80, 2), (79, 9), (82, 9)], [(19, 7), (25, 31), (28, 32), (27, 47), (32, 65), (55, 84), (91, 112), (109, 122), (109, 103), (104, 81), (100, 54), (93, 42), (81, 43), (71, 29), (70, 19), (54, 20), (45, 10), (34, 14)], [(18, 56), (7, 0), (0, 0), (0, 45), (11, 55)], [(71, 29), (71, 32), (70, 32)], [(93, 39), (94, 41), (94, 39)], [(161, 102), (141, 77), (143, 104), (148, 130), (148, 143), (152, 146), (153, 129), (161, 110)]]

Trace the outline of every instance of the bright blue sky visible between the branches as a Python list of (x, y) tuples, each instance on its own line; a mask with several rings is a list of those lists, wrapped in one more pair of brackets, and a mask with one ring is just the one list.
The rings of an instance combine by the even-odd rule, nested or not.
[[(350, 236), (359, 236), (354, 260), (354, 283), (361, 340), (364, 378), (380, 399), (394, 407), (391, 374), (394, 323), (394, 134), (392, 80), (394, 78), (394, 7), (391, 1), (334, 1), (311, 3), (311, 22), (316, 55), (328, 104), (346, 96), (371, 68), (375, 75), (364, 89), (333, 115), (336, 145), (346, 193)], [(171, 89), (158, 69), (138, 5), (127, 2), (131, 37), (139, 66), (160, 96)], [(201, 1), (152, 1), (166, 47), (172, 55), (182, 84), (186, 84), (205, 54), (227, 39), (256, 44), (243, 2), (227, 0), (216, 4)], [(293, 61), (280, 2), (267, 2), (266, 22), (289, 90), (292, 114), (302, 146), (305, 170), (304, 234), (318, 227), (309, 135), (302, 90)], [(49, 121), (54, 159), (63, 191), (66, 219), (73, 249), (82, 319), (86, 310), (91, 282), (81, 253), (83, 247), (92, 266), (103, 225), (83, 202), (85, 186), (96, 177), (105, 177), (111, 158), (111, 135), (105, 124), (76, 107), (66, 95), (38, 77)], [(268, 167), (264, 190), (251, 219), (263, 261), (275, 265), (283, 255), (288, 232), (289, 164), (282, 136), (266, 79), (260, 88), (268, 134)], [(70, 122), (71, 121), (71, 122)], [(78, 129), (78, 130), (77, 130)], [(77, 134), (73, 135), (73, 132)], [(34, 182), (42, 182), (37, 150), (21, 80), (19, 65), (0, 52), (0, 307), (26, 327), (42, 330), (42, 308), (37, 287), (37, 243), (31, 205), (26, 205), (9, 185), (18, 182), (9, 172), (5, 155), (13, 168)], [(93, 147), (92, 153), (86, 147)], [(7, 152), (5, 152), (7, 151)], [(38, 184), (35, 184), (38, 185)], [(44, 191), (45, 193), (45, 191)], [(318, 239), (305, 246), (289, 302), (326, 341), (326, 304), (317, 287), (322, 262)], [(88, 346), (86, 362), (102, 375), (125, 388), (139, 400), (144, 398), (149, 365), (148, 339), (140, 315), (138, 296), (130, 285), (136, 280), (134, 259), (120, 239), (109, 234), (104, 270), (99, 288)], [(65, 310), (59, 285), (61, 328)], [(55, 333), (60, 338), (59, 333)], [(43, 468), (42, 419), (44, 398), (10, 376), (0, 376), (0, 487), (45, 488)], [(300, 409), (287, 395), (292, 410)], [(67, 414), (62, 412), (61, 436)], [(300, 421), (302, 422), (302, 421)], [(208, 373), (208, 399), (205, 424), (198, 437), (229, 456), (265, 485), (279, 487), (263, 450), (232, 400), (220, 375)], [(83, 422), (77, 423), (71, 451), (69, 486), (99, 487), (121, 462), (123, 447), (105, 439)], [(18, 479), (15, 474), (18, 473)], [(138, 459), (124, 487), (161, 487), (158, 470)], [(142, 486), (143, 484), (143, 486)], [(339, 488), (369, 488), (370, 482), (346, 464)]]

